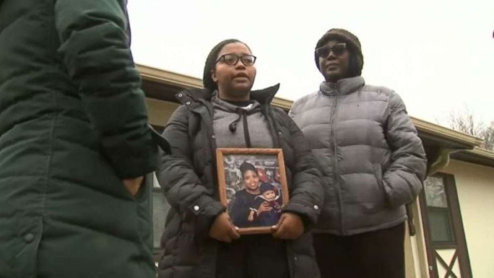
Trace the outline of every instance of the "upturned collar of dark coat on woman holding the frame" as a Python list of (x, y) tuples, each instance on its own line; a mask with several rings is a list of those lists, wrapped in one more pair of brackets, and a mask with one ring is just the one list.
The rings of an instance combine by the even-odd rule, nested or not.
[[(250, 99), (255, 100), (261, 105), (270, 104), (278, 92), (279, 84), (262, 89), (250, 91)], [(187, 89), (175, 95), (178, 101), (185, 105), (190, 105), (191, 101), (211, 101), (213, 92), (207, 89)]]

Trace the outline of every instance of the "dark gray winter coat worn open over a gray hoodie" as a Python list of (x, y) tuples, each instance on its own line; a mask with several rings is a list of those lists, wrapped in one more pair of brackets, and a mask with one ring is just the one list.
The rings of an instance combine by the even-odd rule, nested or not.
[[(271, 87), (251, 92), (251, 99), (267, 115), (274, 147), (283, 149), (291, 197), (284, 210), (302, 216), (309, 231), (323, 202), (320, 173), (298, 127), (286, 113), (270, 106), (276, 91), (277, 87)], [(218, 201), (211, 93), (196, 89), (177, 96), (184, 105), (164, 131), (172, 154), (162, 156), (158, 173), (171, 205), (158, 273), (160, 278), (215, 278), (218, 241), (209, 238), (208, 232), (225, 207)], [(286, 243), (291, 277), (319, 277), (311, 234)]]

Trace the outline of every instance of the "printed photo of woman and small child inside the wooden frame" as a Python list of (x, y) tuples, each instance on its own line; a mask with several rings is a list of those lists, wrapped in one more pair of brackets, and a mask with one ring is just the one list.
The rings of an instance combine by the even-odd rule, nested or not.
[(225, 157), (228, 212), (234, 225), (239, 228), (276, 225), (283, 208), (276, 156), (269, 160), (257, 158), (253, 163), (238, 158)]

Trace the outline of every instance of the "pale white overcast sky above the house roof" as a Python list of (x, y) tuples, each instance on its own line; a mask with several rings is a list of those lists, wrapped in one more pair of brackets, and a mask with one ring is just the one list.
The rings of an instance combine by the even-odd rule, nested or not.
[[(247, 43), (254, 89), (296, 100), (323, 81), (313, 51), (330, 28), (356, 34), (366, 83), (401, 95), (411, 116), (445, 124), (465, 106), (494, 120), (494, 0), (130, 0), (136, 63), (202, 78), (211, 48)], [(296, 3), (296, 4), (295, 4)]]

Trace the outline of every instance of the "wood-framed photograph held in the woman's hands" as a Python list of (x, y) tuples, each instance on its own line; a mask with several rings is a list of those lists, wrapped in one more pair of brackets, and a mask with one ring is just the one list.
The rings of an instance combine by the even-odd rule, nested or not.
[(271, 233), (288, 202), (280, 148), (218, 148), (220, 201), (240, 234)]

